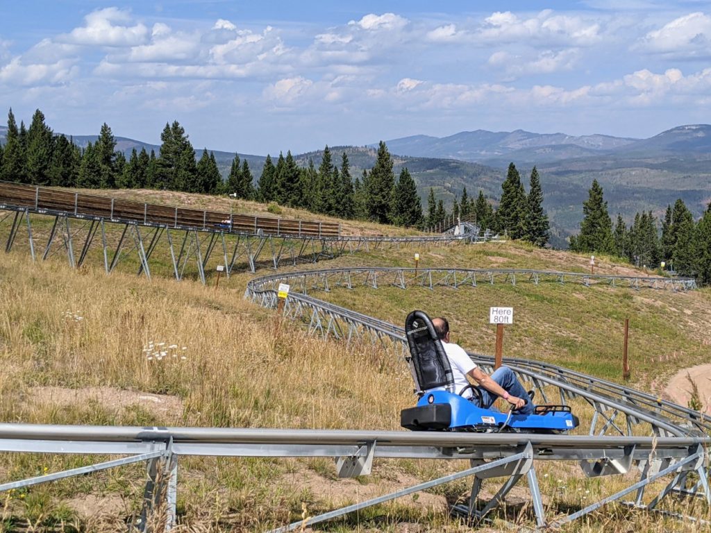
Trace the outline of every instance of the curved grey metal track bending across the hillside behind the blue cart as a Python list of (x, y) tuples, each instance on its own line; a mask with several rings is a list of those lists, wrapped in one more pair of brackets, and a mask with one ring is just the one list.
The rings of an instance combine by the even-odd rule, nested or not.
[[(587, 274), (564, 273), (557, 271), (525, 271), (506, 269), (415, 269), (355, 267), (341, 269), (321, 269), (271, 274), (252, 279), (247, 284), (245, 298), (260, 303), (262, 306), (277, 305), (277, 289), (279, 284), (289, 284), (292, 291), (287, 298), (285, 313), (292, 318), (309, 321), (309, 332), (343, 338), (351, 342), (355, 339), (370, 338), (378, 342), (386, 341), (394, 345), (396, 350), (405, 355), (405, 333), (400, 326), (358, 313), (342, 306), (309, 295), (309, 291), (329, 291), (342, 287), (351, 289), (354, 286), (368, 286), (377, 289), (378, 286), (396, 286), (407, 289), (408, 286), (458, 287), (462, 285), (476, 286), (476, 276), (483, 278), (488, 284), (498, 282), (514, 283), (515, 276), (532, 283), (568, 280), (570, 282), (592, 285), (606, 283), (614, 285), (611, 280), (618, 281), (616, 286), (635, 286), (629, 281), (639, 281), (639, 278), (626, 276), (588, 276)], [(513, 281), (512, 281), (513, 276)], [(595, 281), (592, 281), (595, 280)], [(649, 278), (645, 286), (661, 284), (664, 279)], [(678, 284), (685, 288), (685, 279), (666, 279), (664, 283), (674, 288)], [(621, 284), (626, 281), (626, 284)], [(676, 289), (675, 289), (676, 290)], [(493, 365), (493, 357), (479, 353), (470, 353), (470, 357), (483, 367)], [(604, 430), (614, 429), (616, 434), (634, 436), (638, 434), (638, 424), (645, 423), (651, 428), (651, 434), (656, 436), (708, 436), (711, 435), (711, 417), (700, 414), (665, 399), (654, 397), (631, 387), (609, 382), (581, 372), (568, 370), (565, 367), (551, 365), (535, 360), (507, 358), (507, 365), (512, 367), (518, 377), (538, 389), (542, 398), (547, 399), (550, 390), (557, 389), (560, 401), (566, 404), (570, 399), (582, 398), (595, 409), (596, 415), (592, 421), (590, 434), (597, 431), (599, 417), (606, 419)], [(612, 411), (614, 414), (609, 414)], [(621, 429), (611, 416), (624, 414), (626, 427)], [(603, 433), (605, 434), (605, 433)], [(711, 438), (709, 438), (711, 443)]]

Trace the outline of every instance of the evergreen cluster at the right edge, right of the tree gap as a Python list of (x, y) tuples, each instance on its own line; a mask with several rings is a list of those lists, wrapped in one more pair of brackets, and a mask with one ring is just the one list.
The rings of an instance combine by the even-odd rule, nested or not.
[(574, 252), (614, 254), (637, 266), (656, 268), (665, 263), (681, 276), (711, 283), (711, 203), (695, 221), (683, 200), (667, 205), (661, 227), (651, 211), (637, 213), (627, 227), (622, 216), (612, 227), (602, 186), (592, 182), (583, 203), (580, 233), (570, 237)]

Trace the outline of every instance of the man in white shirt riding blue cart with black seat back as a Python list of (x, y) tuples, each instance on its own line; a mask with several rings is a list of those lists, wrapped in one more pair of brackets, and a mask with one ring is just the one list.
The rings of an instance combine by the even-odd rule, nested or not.
[[(403, 409), (400, 425), (412, 431), (520, 431), (558, 433), (578, 425), (565, 405), (533, 405), (513, 370), (483, 372), (459, 346), (449, 342), (449, 323), (412, 311), (405, 321), (410, 369), (419, 396), (416, 407)], [(479, 386), (466, 379), (469, 375)], [(511, 406), (508, 414), (492, 409), (498, 397)]]

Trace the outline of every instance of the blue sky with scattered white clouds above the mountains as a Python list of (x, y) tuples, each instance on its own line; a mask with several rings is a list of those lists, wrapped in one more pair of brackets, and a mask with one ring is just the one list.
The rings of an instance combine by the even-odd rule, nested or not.
[[(435, 11), (435, 9), (437, 11)], [(0, 114), (247, 154), (711, 122), (711, 2), (2, 1)], [(4, 118), (4, 117), (3, 117)]]

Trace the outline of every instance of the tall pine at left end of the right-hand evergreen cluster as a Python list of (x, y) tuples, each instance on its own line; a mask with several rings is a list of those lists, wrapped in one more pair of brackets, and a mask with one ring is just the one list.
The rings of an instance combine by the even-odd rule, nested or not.
[(583, 202), (583, 220), (580, 222), (580, 233), (571, 241), (574, 252), (614, 252), (612, 238), (612, 221), (607, 212), (607, 202), (602, 195), (602, 187), (597, 180), (592, 181), (588, 191), (589, 198)]

